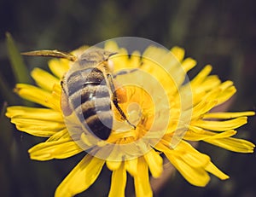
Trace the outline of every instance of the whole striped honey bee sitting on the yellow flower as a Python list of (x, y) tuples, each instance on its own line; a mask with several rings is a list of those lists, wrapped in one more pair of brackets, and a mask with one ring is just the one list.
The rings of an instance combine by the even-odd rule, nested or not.
[(86, 130), (107, 140), (113, 127), (113, 107), (121, 118), (136, 129), (119, 107), (126, 101), (125, 89), (114, 81), (109, 57), (116, 53), (92, 48), (76, 56), (58, 50), (36, 50), (22, 55), (51, 56), (73, 61), (61, 80), (61, 110), (64, 116), (76, 113)]

